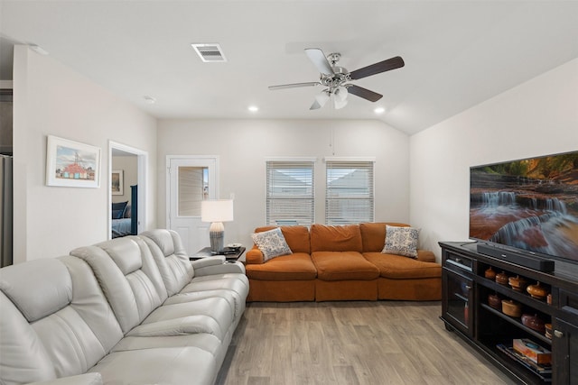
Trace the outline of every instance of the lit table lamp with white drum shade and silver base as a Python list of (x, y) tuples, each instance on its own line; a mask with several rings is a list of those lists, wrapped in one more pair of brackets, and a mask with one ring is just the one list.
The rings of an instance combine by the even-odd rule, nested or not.
[(211, 223), (209, 227), (210, 252), (212, 254), (222, 252), (225, 243), (223, 222), (233, 220), (233, 201), (231, 199), (201, 201), (200, 220)]

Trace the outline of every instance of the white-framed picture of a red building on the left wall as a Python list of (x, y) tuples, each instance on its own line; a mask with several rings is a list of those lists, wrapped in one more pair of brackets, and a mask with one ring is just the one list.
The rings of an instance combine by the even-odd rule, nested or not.
[(46, 186), (98, 188), (100, 149), (48, 135)]

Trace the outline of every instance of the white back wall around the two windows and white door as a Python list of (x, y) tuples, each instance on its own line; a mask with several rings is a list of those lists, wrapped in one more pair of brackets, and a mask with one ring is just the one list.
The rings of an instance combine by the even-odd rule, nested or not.
[[(333, 133), (331, 134), (331, 130)], [(332, 136), (331, 136), (332, 135)], [(331, 143), (333, 138), (333, 145)], [(316, 222), (324, 220), (327, 156), (376, 157), (376, 221), (409, 220), (409, 137), (378, 121), (245, 120), (159, 122), (158, 223), (166, 221), (167, 155), (219, 155), (219, 197), (235, 194), (235, 221), (225, 225), (225, 243), (252, 244), (265, 225), (267, 157), (316, 157)], [(207, 245), (209, 240), (207, 240)], [(193, 252), (193, 251), (190, 251)]]

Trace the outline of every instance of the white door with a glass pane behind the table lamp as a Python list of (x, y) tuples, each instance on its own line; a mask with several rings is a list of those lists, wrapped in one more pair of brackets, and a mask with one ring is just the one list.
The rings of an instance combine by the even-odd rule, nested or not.
[(181, 235), (191, 255), (210, 245), (200, 202), (217, 198), (217, 157), (167, 157), (167, 228)]

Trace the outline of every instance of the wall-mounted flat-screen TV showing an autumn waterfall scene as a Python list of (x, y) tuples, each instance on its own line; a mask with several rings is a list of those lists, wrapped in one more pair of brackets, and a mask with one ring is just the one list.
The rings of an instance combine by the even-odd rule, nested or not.
[(470, 170), (470, 237), (578, 262), (578, 151)]

